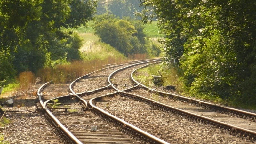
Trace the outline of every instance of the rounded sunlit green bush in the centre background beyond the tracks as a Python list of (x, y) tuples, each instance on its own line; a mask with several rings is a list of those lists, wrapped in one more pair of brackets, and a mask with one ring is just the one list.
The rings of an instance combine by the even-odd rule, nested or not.
[(94, 23), (95, 34), (100, 37), (100, 40), (115, 47), (126, 56), (144, 53), (159, 56), (161, 53), (156, 45), (149, 43), (143, 31), (144, 26), (139, 21), (128, 17), (118, 19), (106, 13), (97, 16)]

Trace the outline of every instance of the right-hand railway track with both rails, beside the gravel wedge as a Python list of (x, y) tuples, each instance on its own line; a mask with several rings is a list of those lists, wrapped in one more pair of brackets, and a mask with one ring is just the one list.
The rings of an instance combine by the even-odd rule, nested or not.
[[(146, 66), (148, 65), (145, 65), (143, 67), (146, 67)], [(152, 105), (153, 107), (159, 108), (163, 111), (179, 113), (179, 115), (184, 115), (186, 117), (193, 117), (192, 119), (197, 120), (199, 123), (203, 122), (206, 124), (212, 124), (214, 126), (220, 127), (221, 129), (228, 130), (232, 134), (237, 135), (239, 137), (250, 139), (252, 141), (256, 140), (256, 123), (255, 123), (256, 114), (255, 113), (250, 113), (250, 112), (246, 112), (246, 111), (242, 111), (234, 108), (223, 107), (223, 106), (215, 105), (212, 103), (195, 100), (195, 99), (183, 97), (180, 95), (161, 92), (161, 91), (148, 88), (145, 85), (134, 80), (132, 75), (135, 71), (136, 70), (134, 70), (131, 73), (131, 79), (133, 82), (138, 84), (138, 86), (134, 86), (132, 88), (128, 88), (126, 90), (121, 91), (123, 95), (129, 96), (131, 94), (128, 94), (126, 92), (129, 92), (129, 91), (134, 92), (134, 89), (141, 89), (142, 87), (143, 89), (146, 90), (144, 92), (140, 92), (140, 95), (143, 95), (143, 97), (139, 95), (132, 95), (133, 98), (135, 97), (136, 99), (147, 101), (149, 105)], [(157, 94), (158, 96), (161, 96), (163, 98), (167, 97), (172, 101), (178, 100), (179, 103), (170, 102), (170, 100), (166, 102), (165, 101), (166, 99), (162, 100), (161, 103), (155, 100), (150, 100), (147, 98), (145, 99), (144, 97), (148, 96), (148, 94), (146, 93), (149, 93), (149, 92)], [(191, 106), (191, 104), (193, 106)], [(234, 116), (236, 116), (237, 118), (235, 118)]]

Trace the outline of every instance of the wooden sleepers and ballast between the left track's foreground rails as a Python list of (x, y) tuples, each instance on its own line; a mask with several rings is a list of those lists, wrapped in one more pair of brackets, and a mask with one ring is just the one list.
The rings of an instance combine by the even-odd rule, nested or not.
[(140, 143), (120, 132), (118, 126), (95, 115), (91, 110), (56, 111), (54, 116), (82, 143)]

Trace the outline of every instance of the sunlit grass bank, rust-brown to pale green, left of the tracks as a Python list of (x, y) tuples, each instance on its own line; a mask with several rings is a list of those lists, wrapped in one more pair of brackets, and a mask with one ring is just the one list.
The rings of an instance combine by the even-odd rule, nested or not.
[(101, 43), (98, 36), (92, 33), (80, 33), (80, 36), (84, 39), (84, 44), (81, 47), (82, 61), (73, 61), (54, 67), (47, 66), (37, 70), (36, 74), (32, 72), (20, 73), (18, 93), (30, 89), (31, 84), (37, 83), (38, 80), (42, 83), (52, 81), (55, 84), (65, 84), (107, 64), (148, 58), (146, 54), (134, 54), (127, 58), (109, 44)]

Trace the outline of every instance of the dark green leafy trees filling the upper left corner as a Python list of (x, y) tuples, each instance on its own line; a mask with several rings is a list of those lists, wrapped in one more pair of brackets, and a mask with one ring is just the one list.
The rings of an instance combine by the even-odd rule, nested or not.
[(81, 40), (63, 28), (86, 25), (95, 0), (1, 0), (0, 81), (53, 60), (79, 59)]

